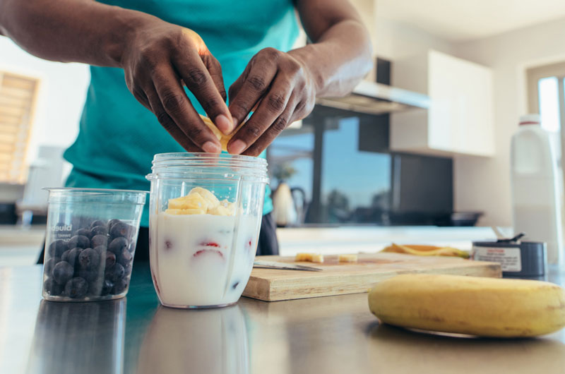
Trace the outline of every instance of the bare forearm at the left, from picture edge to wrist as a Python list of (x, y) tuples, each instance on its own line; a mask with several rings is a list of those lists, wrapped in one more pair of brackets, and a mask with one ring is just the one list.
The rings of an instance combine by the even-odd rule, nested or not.
[(148, 16), (92, 0), (0, 0), (0, 33), (42, 59), (120, 66)]

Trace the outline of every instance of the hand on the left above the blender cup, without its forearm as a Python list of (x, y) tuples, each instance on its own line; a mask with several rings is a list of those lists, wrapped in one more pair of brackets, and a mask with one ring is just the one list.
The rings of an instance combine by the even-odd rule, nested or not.
[(184, 92), (194, 93), (220, 131), (231, 131), (220, 63), (196, 32), (158, 18), (133, 33), (121, 58), (126, 84), (161, 125), (191, 152), (220, 152), (220, 142)]

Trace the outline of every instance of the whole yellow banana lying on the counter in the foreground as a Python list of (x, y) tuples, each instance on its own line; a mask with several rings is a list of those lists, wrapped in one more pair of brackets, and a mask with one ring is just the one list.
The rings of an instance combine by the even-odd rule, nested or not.
[(398, 275), (369, 291), (381, 322), (483, 337), (535, 337), (565, 327), (565, 289), (549, 282)]

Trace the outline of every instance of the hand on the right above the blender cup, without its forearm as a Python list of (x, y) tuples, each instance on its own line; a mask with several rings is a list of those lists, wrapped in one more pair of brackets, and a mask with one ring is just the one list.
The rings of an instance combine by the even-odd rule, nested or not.
[(314, 75), (293, 52), (262, 49), (230, 87), (234, 127), (256, 108), (228, 143), (230, 153), (259, 155), (290, 123), (314, 109)]

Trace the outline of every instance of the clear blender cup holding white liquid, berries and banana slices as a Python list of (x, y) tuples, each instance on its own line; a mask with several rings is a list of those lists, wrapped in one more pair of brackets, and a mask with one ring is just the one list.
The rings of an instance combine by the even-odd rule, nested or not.
[(208, 153), (155, 155), (149, 251), (164, 306), (213, 308), (237, 302), (255, 258), (267, 162)]

